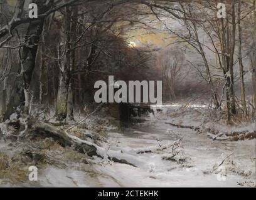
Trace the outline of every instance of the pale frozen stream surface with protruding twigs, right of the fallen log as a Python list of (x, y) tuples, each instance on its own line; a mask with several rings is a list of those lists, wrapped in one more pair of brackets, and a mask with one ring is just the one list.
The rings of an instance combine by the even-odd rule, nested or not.
[[(168, 119), (148, 119), (145, 123), (124, 129), (122, 133), (109, 133), (112, 141), (110, 149), (122, 149), (122, 152), (134, 155), (134, 158), (144, 162), (139, 168), (117, 163), (95, 168), (115, 180), (116, 183), (112, 186), (253, 186), (255, 139), (238, 142), (213, 141), (205, 134), (197, 134), (191, 129), (175, 128), (166, 122)], [(163, 159), (170, 155), (171, 149), (136, 154), (140, 149), (154, 149), (180, 138), (182, 139), (176, 160)], [(220, 164), (219, 168), (214, 168)]]

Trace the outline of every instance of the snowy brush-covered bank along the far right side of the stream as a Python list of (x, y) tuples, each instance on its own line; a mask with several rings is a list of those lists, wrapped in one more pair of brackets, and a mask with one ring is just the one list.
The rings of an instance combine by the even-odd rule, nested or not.
[(238, 141), (256, 138), (256, 121), (237, 119), (227, 124), (227, 116), (221, 111), (208, 109), (198, 104), (168, 104), (161, 106), (158, 119), (179, 128), (191, 128), (206, 134), (211, 139)]

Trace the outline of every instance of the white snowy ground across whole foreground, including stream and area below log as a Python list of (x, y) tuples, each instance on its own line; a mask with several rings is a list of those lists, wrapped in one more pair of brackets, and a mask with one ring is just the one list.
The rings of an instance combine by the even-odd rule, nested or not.
[[(174, 106), (175, 107), (175, 106)], [(170, 117), (168, 108), (127, 128), (109, 129), (106, 153), (130, 164), (94, 158), (90, 164), (41, 168), (38, 181), (18, 186), (53, 187), (244, 187), (255, 186), (256, 140), (216, 141), (168, 123), (195, 123), (191, 113)], [(189, 120), (190, 119), (190, 120)], [(198, 126), (201, 122), (197, 122)], [(248, 125), (248, 127), (253, 125)], [(8, 186), (8, 184), (1, 184)]]

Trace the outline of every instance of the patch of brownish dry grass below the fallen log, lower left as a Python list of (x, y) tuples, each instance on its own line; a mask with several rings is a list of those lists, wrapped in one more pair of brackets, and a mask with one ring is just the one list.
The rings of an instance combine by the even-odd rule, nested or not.
[(29, 166), (46, 168), (56, 166), (85, 166), (88, 156), (78, 153), (72, 147), (62, 147), (53, 139), (35, 139), (24, 141), (12, 150), (12, 156), (0, 153), (0, 183), (13, 185), (28, 181)]

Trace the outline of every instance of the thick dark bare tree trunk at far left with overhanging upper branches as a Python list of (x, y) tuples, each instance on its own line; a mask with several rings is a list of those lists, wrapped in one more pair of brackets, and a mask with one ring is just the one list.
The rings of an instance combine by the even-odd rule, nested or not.
[[(52, 12), (58, 9), (65, 8), (76, 2), (76, 0), (70, 1), (35, 1), (38, 4), (38, 18), (29, 18), (24, 5), (27, 4), (25, 0), (17, 1), (17, 5), (14, 11), (14, 15), (11, 21), (7, 22), (6, 25), (0, 28), (0, 47), (5, 48), (19, 48), (19, 57), (21, 59), (18, 76), (16, 76), (16, 81), (14, 83), (14, 89), (12, 91), (10, 101), (6, 106), (6, 112), (4, 113), (4, 119), (8, 119), (9, 116), (14, 113), (16, 108), (21, 107), (24, 113), (29, 112), (29, 103), (31, 94), (29, 93), (29, 86), (31, 83), (31, 78), (33, 71), (35, 69), (35, 59), (38, 50), (38, 44), (40, 41), (40, 36), (43, 31), (43, 24), (45, 17), (47, 17)], [(21, 39), (20, 34), (17, 32), (17, 37), (19, 38), (19, 44), (16, 47), (6, 46), (7, 42), (10, 41), (14, 34), (13, 31), (16, 27), (21, 24), (28, 24), (26, 34), (24, 39)]]

